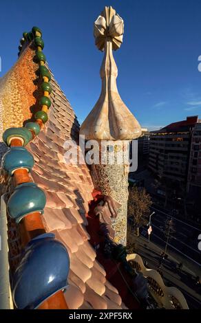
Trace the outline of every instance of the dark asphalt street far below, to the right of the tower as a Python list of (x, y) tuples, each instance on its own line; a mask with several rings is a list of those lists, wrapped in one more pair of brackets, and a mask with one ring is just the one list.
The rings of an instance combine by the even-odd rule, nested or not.
[[(165, 249), (166, 237), (162, 232), (169, 214), (154, 209), (151, 217), (152, 233), (148, 242), (147, 228), (140, 229), (140, 237), (136, 237), (137, 253), (147, 260), (147, 267), (158, 269), (161, 252)], [(182, 291), (189, 308), (201, 309), (201, 286), (195, 285), (195, 277), (201, 279), (201, 251), (198, 250), (198, 227), (173, 218), (176, 234), (171, 237), (167, 247), (167, 260), (162, 260), (163, 280), (167, 286), (175, 286)], [(132, 235), (133, 236), (133, 235)], [(133, 236), (134, 237), (134, 236)], [(178, 264), (182, 263), (182, 270)]]

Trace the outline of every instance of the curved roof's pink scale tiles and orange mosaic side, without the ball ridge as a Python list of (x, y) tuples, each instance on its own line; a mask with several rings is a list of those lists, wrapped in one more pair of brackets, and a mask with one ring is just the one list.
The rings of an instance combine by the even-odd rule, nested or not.
[[(34, 82), (37, 66), (33, 58), (30, 43), (0, 81), (3, 130), (10, 126), (22, 126), (24, 120), (32, 118), (33, 109), (37, 109), (40, 93), (38, 83)], [(85, 164), (66, 164), (63, 159), (63, 144), (67, 139), (78, 138), (79, 124), (53, 74), (50, 83), (52, 104), (49, 120), (39, 135), (26, 146), (35, 161), (32, 179), (45, 190), (47, 199), (43, 223), (47, 232), (54, 232), (70, 254), (70, 288), (65, 292), (68, 306), (78, 309), (89, 304), (98, 309), (101, 300), (103, 308), (109, 309), (111, 303), (116, 303), (115, 297), (107, 296), (105, 269), (96, 261), (96, 252), (89, 243), (85, 228), (88, 202), (93, 199), (92, 179)], [(100, 277), (105, 283), (99, 282)], [(116, 306), (119, 307), (118, 304)]]

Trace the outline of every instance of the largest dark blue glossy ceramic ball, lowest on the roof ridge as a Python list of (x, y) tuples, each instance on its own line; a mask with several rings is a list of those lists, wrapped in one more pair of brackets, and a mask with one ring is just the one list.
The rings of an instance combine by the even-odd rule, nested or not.
[(70, 259), (54, 234), (32, 239), (22, 256), (12, 281), (17, 309), (36, 309), (54, 293), (67, 287)]

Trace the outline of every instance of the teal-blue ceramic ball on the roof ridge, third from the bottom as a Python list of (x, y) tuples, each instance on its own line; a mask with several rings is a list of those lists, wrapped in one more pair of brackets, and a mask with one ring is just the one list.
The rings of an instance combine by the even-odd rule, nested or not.
[(23, 147), (11, 147), (2, 158), (2, 167), (10, 176), (19, 168), (26, 168), (30, 172), (33, 166), (32, 154)]

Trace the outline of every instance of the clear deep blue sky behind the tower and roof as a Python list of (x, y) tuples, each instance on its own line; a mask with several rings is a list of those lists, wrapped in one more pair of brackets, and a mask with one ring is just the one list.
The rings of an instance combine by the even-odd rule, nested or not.
[(0, 76), (17, 60), (23, 31), (38, 25), (50, 68), (84, 120), (100, 94), (103, 53), (93, 23), (105, 5), (125, 21), (114, 53), (118, 90), (140, 124), (158, 129), (187, 115), (201, 118), (200, 0), (1, 0)]

